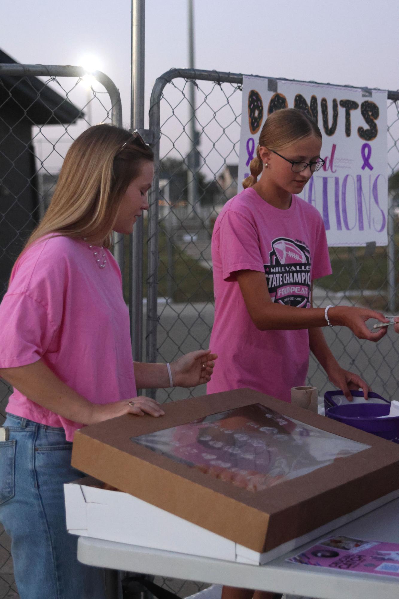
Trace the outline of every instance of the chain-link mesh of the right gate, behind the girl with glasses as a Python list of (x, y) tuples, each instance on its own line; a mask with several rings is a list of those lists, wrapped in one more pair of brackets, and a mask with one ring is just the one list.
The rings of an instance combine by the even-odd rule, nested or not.
[[(159, 201), (154, 196), (148, 216), (147, 361), (172, 361), (208, 347), (214, 317), (211, 235), (223, 204), (237, 193), (241, 84), (240, 74), (182, 69), (165, 73), (154, 86), (150, 136), (157, 140)], [(331, 247), (333, 274), (315, 282), (316, 307), (399, 309), (399, 93), (388, 98), (388, 247)], [(377, 393), (395, 396), (399, 343), (391, 329), (378, 344), (360, 341), (343, 327), (328, 328), (325, 336), (342, 367), (360, 373)], [(331, 388), (313, 357), (309, 383), (319, 395)], [(205, 386), (191, 390), (204, 393)], [(187, 395), (185, 389), (162, 390), (157, 399)]]

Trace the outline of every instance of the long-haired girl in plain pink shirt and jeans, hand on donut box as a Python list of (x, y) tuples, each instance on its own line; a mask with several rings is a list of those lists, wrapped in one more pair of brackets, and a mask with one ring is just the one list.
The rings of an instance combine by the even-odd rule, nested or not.
[(11, 537), (21, 599), (101, 599), (102, 571), (77, 561), (63, 483), (77, 428), (115, 416), (162, 416), (138, 388), (210, 380), (202, 350), (170, 365), (132, 360), (129, 311), (109, 246), (148, 209), (153, 152), (141, 137), (98, 125), (72, 144), (50, 207), (0, 305), (0, 376), (14, 387), (0, 443), (0, 521)]

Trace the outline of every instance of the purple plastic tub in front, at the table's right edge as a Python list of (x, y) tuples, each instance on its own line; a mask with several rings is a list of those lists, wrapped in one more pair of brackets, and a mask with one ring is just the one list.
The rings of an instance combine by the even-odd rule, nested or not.
[[(362, 391), (354, 391), (352, 395), (360, 397)], [(372, 398), (373, 395), (369, 394)], [(380, 396), (377, 396), (379, 399)], [(371, 432), (377, 437), (382, 437), (388, 441), (399, 443), (399, 416), (392, 418), (379, 418), (379, 416), (387, 416), (389, 414), (389, 401), (385, 403), (373, 404), (346, 404), (345, 406), (334, 406), (326, 410), (325, 415), (333, 420), (338, 420), (344, 424), (355, 426), (362, 431)]]

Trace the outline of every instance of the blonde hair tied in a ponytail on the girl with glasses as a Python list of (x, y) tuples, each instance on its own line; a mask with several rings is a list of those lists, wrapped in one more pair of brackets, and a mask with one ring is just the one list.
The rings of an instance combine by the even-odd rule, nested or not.
[(263, 170), (259, 148), (266, 147), (269, 150), (282, 150), (287, 146), (315, 135), (321, 139), (321, 131), (315, 121), (303, 110), (297, 108), (282, 108), (270, 114), (260, 132), (256, 156), (249, 163), (251, 174), (242, 181), (244, 189), (252, 187), (258, 180)]

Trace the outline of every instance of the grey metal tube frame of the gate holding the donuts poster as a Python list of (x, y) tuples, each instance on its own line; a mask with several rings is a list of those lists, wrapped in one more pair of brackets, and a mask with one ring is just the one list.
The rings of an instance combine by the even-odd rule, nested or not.
[[(221, 83), (233, 83), (237, 86), (242, 86), (243, 77), (245, 74), (233, 73), (233, 72), (219, 72), (219, 71), (207, 71), (204, 69), (170, 69), (166, 71), (160, 77), (157, 78), (154, 83), (153, 90), (151, 92), (150, 100), (150, 126), (148, 130), (144, 131), (145, 138), (148, 144), (151, 145), (154, 152), (155, 162), (155, 176), (153, 186), (150, 192), (150, 208), (148, 210), (148, 265), (147, 265), (147, 334), (146, 334), (146, 361), (156, 362), (157, 361), (157, 328), (158, 328), (158, 310), (157, 310), (157, 299), (158, 299), (158, 249), (159, 249), (159, 210), (158, 210), (158, 196), (159, 196), (159, 167), (160, 167), (160, 102), (167, 83), (170, 83), (173, 79), (182, 78), (184, 80), (192, 81), (195, 85), (196, 81), (212, 81), (217, 84)], [(251, 75), (251, 77), (261, 78), (272, 78), (276, 81), (297, 81), (298, 83), (316, 83), (315, 81), (302, 81), (287, 79), (284, 77), (266, 77), (264, 75)], [(325, 83), (323, 85), (332, 85)], [(359, 89), (358, 86), (345, 85), (341, 87), (348, 87)], [(365, 88), (368, 89), (368, 88)], [(399, 101), (399, 90), (388, 90), (388, 100), (397, 102)], [(189, 101), (189, 100), (188, 100)], [(389, 241), (388, 241), (389, 247)], [(387, 248), (388, 249), (388, 248)], [(389, 284), (388, 275), (388, 284)], [(392, 281), (391, 281), (392, 285)], [(153, 390), (148, 389), (147, 394), (153, 396)]]

